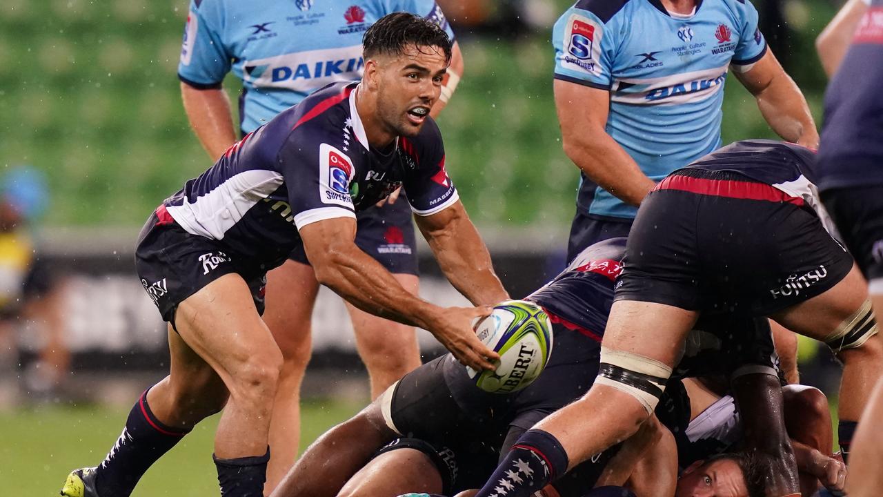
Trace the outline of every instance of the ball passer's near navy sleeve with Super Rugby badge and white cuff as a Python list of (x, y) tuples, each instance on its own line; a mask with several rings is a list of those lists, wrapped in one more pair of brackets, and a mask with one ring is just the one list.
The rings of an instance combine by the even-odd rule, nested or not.
[(349, 156), (335, 146), (292, 133), (276, 156), (288, 187), (291, 214), (298, 230), (331, 218), (355, 218), (350, 184), (356, 178)]

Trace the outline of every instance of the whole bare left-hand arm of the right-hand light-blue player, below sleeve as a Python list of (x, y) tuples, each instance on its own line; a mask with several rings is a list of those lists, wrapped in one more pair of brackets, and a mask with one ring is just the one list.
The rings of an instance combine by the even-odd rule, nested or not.
[(607, 134), (610, 92), (563, 80), (555, 80), (554, 88), (564, 153), (600, 187), (639, 205), (656, 184)]

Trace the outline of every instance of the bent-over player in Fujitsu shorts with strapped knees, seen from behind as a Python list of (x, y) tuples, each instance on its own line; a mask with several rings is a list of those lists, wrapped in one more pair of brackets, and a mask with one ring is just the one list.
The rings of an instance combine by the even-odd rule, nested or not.
[[(494, 495), (516, 461), (530, 464), (532, 478), (506, 496), (526, 497), (635, 432), (700, 313), (768, 316), (824, 340), (845, 363), (840, 419), (857, 419), (883, 353), (861, 276), (813, 210), (813, 161), (796, 145), (739, 141), (654, 189), (629, 236), (598, 378), (581, 400), (525, 432), (479, 497)], [(789, 457), (766, 457), (771, 472), (796, 473), (790, 447), (774, 448)], [(796, 478), (788, 480), (768, 494), (797, 493)]]

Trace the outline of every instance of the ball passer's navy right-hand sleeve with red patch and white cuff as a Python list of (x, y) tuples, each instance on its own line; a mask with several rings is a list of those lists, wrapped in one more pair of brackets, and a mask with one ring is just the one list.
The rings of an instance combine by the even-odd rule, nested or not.
[(442, 133), (434, 121), (416, 139), (399, 139), (404, 152), (404, 195), (418, 216), (431, 216), (457, 203), (460, 196), (444, 167)]

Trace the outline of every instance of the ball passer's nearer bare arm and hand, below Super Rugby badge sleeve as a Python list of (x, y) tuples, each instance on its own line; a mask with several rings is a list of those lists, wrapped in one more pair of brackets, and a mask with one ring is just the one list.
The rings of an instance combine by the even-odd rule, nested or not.
[(428, 330), (457, 360), (473, 369), (494, 370), (491, 360), (499, 356), (472, 331), (472, 320), (490, 314), (489, 308), (442, 309), (421, 300), (359, 249), (355, 235), (355, 218), (324, 219), (300, 228), (306, 256), (321, 284), (358, 309)]

